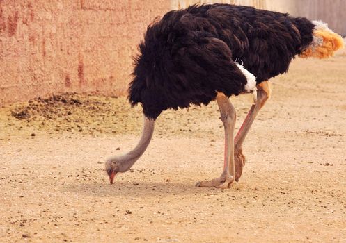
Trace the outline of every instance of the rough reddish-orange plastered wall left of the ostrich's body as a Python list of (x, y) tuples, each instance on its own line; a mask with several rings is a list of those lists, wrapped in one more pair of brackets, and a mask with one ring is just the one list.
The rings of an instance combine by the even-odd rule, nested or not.
[(0, 106), (61, 92), (121, 94), (165, 0), (0, 0)]

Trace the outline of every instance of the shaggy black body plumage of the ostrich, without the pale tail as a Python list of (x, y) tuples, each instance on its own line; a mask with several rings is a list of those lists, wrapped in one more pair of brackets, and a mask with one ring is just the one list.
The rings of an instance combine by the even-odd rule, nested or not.
[(228, 4), (168, 12), (139, 44), (128, 99), (156, 119), (167, 108), (207, 105), (217, 92), (241, 94), (247, 81), (236, 60), (257, 84), (267, 81), (287, 72), (313, 28), (306, 18)]

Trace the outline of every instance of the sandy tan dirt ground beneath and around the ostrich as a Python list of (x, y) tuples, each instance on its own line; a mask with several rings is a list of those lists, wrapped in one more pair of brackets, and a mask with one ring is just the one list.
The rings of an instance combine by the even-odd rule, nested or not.
[[(143, 157), (109, 185), (141, 108), (68, 94), (0, 108), (0, 242), (346, 242), (346, 52), (294, 60), (244, 144), (228, 190), (217, 104), (168, 110)], [(233, 97), (237, 125), (251, 95)]]

